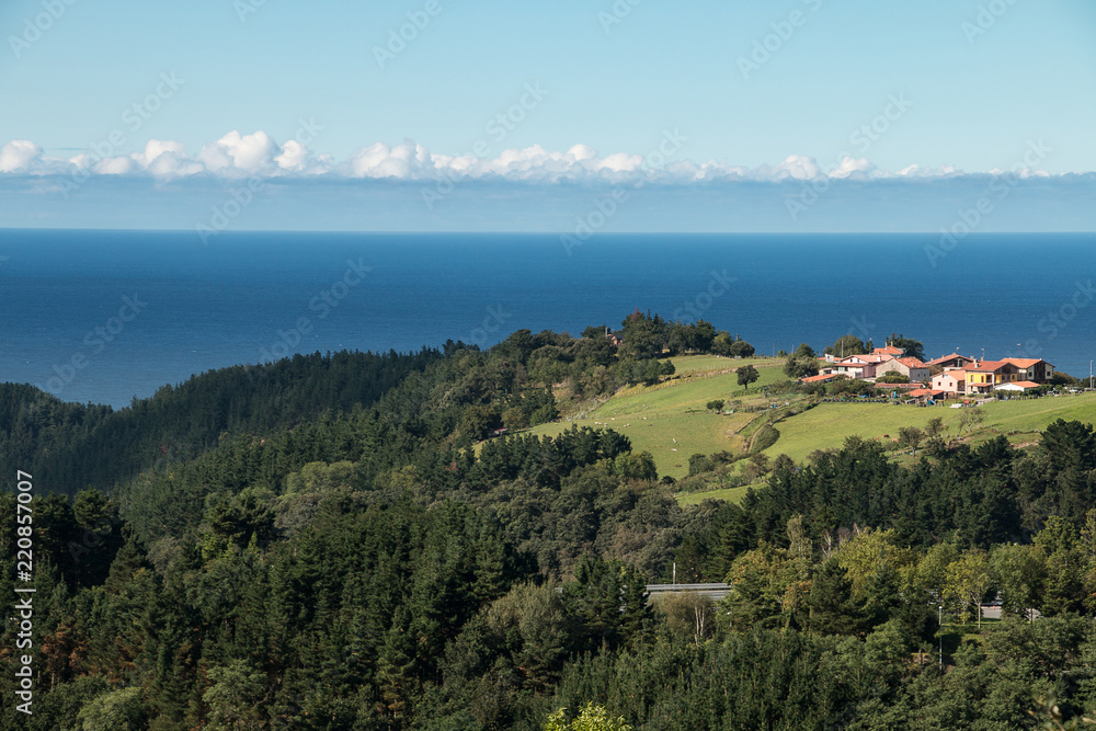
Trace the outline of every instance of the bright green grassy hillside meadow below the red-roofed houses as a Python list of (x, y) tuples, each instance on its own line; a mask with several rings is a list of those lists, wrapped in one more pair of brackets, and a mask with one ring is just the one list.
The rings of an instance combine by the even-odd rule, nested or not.
[[(749, 391), (738, 385), (733, 368), (754, 365), (761, 379)], [(735, 361), (716, 356), (688, 356), (674, 358), (676, 375), (657, 386), (633, 386), (621, 389), (613, 398), (573, 421), (543, 424), (534, 434), (555, 436), (573, 424), (580, 426), (612, 427), (631, 439), (632, 448), (651, 453), (659, 475), (681, 479), (688, 475), (688, 458), (730, 450), (741, 453), (745, 439), (739, 434), (752, 431), (750, 423), (765, 413), (739, 411), (715, 414), (707, 410), (708, 401), (723, 399), (726, 409), (738, 400), (745, 406), (766, 403), (765, 386), (784, 380), (783, 361), (749, 358)], [(774, 400), (783, 402), (784, 398)], [(1017, 445), (1029, 445), (1038, 439), (1040, 430), (1055, 419), (1076, 419), (1096, 422), (1096, 393), (1063, 396), (1016, 401), (993, 401), (983, 407), (986, 419), (973, 441), (997, 434), (1008, 435)], [(898, 436), (903, 426), (924, 427), (928, 420), (940, 416), (949, 436), (959, 430), (959, 409), (946, 407), (916, 408), (889, 403), (822, 403), (789, 416), (776, 424), (779, 439), (765, 450), (769, 457), (787, 454), (797, 461), (815, 449), (838, 448), (845, 438), (858, 435), (866, 439), (880, 439), (884, 435)], [(897, 457), (905, 459), (904, 457)], [(713, 490), (680, 498), (683, 504), (699, 502), (705, 498), (738, 500), (744, 488)]]

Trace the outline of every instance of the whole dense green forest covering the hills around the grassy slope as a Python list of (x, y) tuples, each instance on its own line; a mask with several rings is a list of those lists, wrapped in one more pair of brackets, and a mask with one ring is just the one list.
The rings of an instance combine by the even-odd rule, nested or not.
[[(1096, 713), (1091, 424), (1023, 450), (936, 439), (912, 466), (850, 438), (758, 462), (740, 503), (683, 509), (617, 432), (522, 433), (657, 381), (665, 353), (752, 353), (703, 321), (637, 311), (620, 332), (296, 356), (118, 411), (0, 386), (0, 461), (33, 475), (36, 590), (34, 712), (14, 710), (9, 621), (0, 729), (543, 729), (587, 704), (637, 729)], [(13, 597), (15, 494), (0, 504)], [(732, 591), (650, 601), (675, 568)]]

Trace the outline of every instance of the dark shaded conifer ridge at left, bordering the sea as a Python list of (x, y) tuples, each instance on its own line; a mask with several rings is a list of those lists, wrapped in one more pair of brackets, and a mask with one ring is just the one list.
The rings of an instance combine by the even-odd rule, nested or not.
[(426, 349), (297, 355), (194, 376), (119, 411), (0, 384), (0, 464), (20, 465), (70, 495), (109, 489), (140, 469), (197, 456), (229, 434), (266, 434), (369, 406), (441, 357)]

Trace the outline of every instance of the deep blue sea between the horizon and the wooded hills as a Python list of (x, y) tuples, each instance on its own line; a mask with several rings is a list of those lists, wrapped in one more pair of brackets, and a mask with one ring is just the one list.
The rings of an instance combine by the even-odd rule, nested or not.
[(939, 243), (597, 235), (569, 255), (555, 235), (226, 232), (203, 245), (193, 231), (3, 230), (0, 380), (122, 407), (286, 352), (490, 345), (518, 328), (616, 327), (637, 307), (700, 316), (766, 353), (900, 332), (931, 357), (985, 349), (1088, 375), (1096, 235)]

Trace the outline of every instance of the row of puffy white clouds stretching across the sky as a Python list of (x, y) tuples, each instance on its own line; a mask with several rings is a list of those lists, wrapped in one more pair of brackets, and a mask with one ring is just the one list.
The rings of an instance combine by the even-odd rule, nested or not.
[[(312, 125), (315, 127), (315, 125)], [(326, 178), (395, 182), (482, 180), (495, 182), (627, 183), (650, 182), (692, 184), (710, 182), (795, 182), (818, 180), (949, 180), (972, 175), (1011, 173), (1020, 179), (1053, 179), (1092, 175), (1087, 171), (1050, 173), (1039, 168), (1047, 156), (1042, 140), (1029, 140), (1019, 159), (1008, 169), (963, 171), (952, 165), (936, 168), (911, 163), (901, 170), (878, 168), (867, 158), (842, 155), (830, 164), (806, 155), (789, 155), (775, 164), (754, 168), (726, 160), (696, 162), (681, 155), (687, 140), (677, 130), (666, 130), (652, 150), (601, 153), (582, 144), (566, 151), (540, 145), (510, 148), (488, 155), (444, 155), (432, 152), (412, 139), (397, 145), (373, 142), (359, 147), (349, 158), (336, 160), (308, 148), (310, 123), (301, 122), (295, 139), (277, 142), (263, 130), (240, 134), (232, 130), (203, 145), (196, 152), (175, 140), (149, 139), (144, 149), (115, 155), (104, 141), (71, 157), (47, 155), (33, 140), (15, 139), (0, 146), (0, 174), (32, 178), (62, 178), (76, 182), (92, 176), (137, 176), (158, 181), (206, 176), (217, 179)]]

